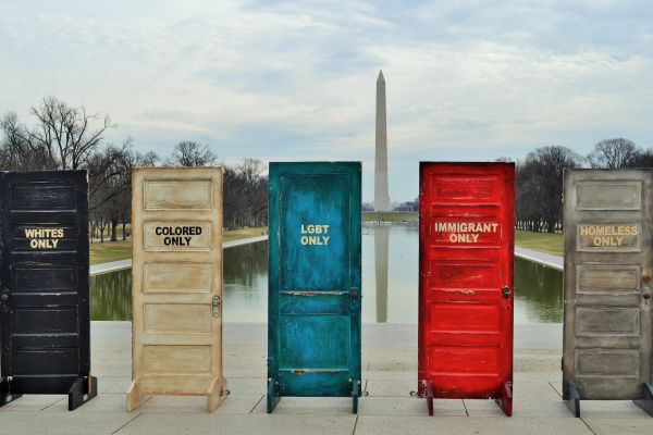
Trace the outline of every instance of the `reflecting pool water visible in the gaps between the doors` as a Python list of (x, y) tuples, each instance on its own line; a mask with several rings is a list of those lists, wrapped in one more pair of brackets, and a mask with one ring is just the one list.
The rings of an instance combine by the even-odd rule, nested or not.
[[(224, 321), (266, 322), (268, 243), (224, 250)], [(362, 322), (417, 323), (418, 227), (362, 228)], [(131, 270), (91, 276), (91, 319), (130, 320)], [(515, 323), (563, 320), (563, 273), (515, 259)]]

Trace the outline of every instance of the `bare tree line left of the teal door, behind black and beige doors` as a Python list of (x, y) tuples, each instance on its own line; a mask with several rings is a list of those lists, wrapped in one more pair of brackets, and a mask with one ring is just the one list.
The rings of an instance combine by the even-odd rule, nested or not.
[[(211, 166), (218, 156), (195, 141), (176, 144), (172, 154), (138, 152), (131, 137), (104, 140), (116, 125), (109, 115), (89, 113), (56, 97), (32, 107), (33, 123), (15, 112), (0, 116), (0, 171), (87, 170), (93, 240), (126, 238), (131, 219), (132, 169), (137, 166)], [(223, 224), (227, 229), (262, 226), (268, 221), (268, 178), (259, 160), (223, 165)], [(119, 235), (119, 227), (122, 234)]]

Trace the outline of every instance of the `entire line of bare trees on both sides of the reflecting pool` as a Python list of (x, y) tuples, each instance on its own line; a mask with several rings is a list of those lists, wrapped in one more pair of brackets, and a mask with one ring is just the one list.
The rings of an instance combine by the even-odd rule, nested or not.
[[(125, 239), (131, 219), (132, 169), (136, 166), (210, 166), (218, 156), (195, 141), (176, 144), (168, 158), (138, 152), (131, 137), (110, 144), (104, 135), (115, 127), (109, 115), (89, 113), (56, 97), (32, 107), (27, 125), (14, 112), (0, 116), (0, 170), (77, 170), (89, 177), (89, 219), (93, 239)], [(510, 159), (497, 159), (510, 161)], [(516, 226), (518, 229), (562, 231), (565, 167), (653, 167), (653, 149), (614, 138), (595, 144), (588, 156), (563, 146), (538, 148), (516, 162)], [(243, 159), (224, 165), (223, 222), (227, 229), (262, 226), (268, 221), (268, 177), (263, 163)], [(398, 204), (417, 210), (418, 200)], [(364, 204), (364, 209), (372, 204)], [(122, 232), (119, 232), (119, 228)]]

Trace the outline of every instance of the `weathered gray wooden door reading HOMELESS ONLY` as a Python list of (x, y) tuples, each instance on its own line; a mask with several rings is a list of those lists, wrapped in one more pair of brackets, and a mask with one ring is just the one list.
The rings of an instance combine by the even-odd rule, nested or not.
[(651, 382), (653, 170), (565, 172), (563, 385), (638, 399)]

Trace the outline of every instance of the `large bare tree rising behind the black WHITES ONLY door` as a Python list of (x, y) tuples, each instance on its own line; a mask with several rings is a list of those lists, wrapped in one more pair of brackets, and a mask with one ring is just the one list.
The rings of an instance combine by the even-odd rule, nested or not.
[[(84, 107), (70, 105), (56, 97), (44, 98), (30, 113), (36, 119), (33, 126), (20, 123), (13, 112), (0, 119), (1, 169), (88, 170), (91, 216), (106, 225), (106, 214), (111, 210), (108, 202), (118, 209), (115, 198), (128, 190), (132, 139), (125, 139), (121, 146), (103, 147), (104, 133), (114, 126), (110, 117), (89, 114)], [(111, 224), (114, 233), (115, 222)]]

